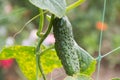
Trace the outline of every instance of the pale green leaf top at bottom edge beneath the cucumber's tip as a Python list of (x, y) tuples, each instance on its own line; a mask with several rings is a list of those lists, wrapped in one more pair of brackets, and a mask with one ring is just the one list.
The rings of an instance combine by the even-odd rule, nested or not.
[(75, 76), (67, 76), (64, 80), (93, 80), (91, 77), (81, 74)]

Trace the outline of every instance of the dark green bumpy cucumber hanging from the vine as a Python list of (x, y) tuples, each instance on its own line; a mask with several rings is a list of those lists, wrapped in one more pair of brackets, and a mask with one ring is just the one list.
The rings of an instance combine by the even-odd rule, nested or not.
[(78, 51), (73, 38), (72, 26), (67, 17), (55, 18), (53, 21), (55, 49), (66, 74), (73, 75), (80, 72)]

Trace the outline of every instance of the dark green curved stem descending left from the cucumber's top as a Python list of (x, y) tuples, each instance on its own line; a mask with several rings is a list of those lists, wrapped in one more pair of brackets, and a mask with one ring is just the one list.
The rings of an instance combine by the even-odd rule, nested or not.
[(50, 21), (50, 24), (49, 24), (49, 26), (48, 26), (48, 29), (47, 29), (46, 33), (45, 33), (44, 36), (43, 36), (41, 39), (39, 39), (39, 41), (38, 41), (38, 45), (37, 45), (37, 48), (36, 48), (36, 52), (39, 52), (39, 50), (40, 50), (40, 45), (42, 44), (42, 42), (44, 41), (44, 39), (47, 37), (47, 35), (50, 33), (51, 28), (52, 28), (53, 20), (54, 20), (54, 15), (52, 14), (51, 21)]

